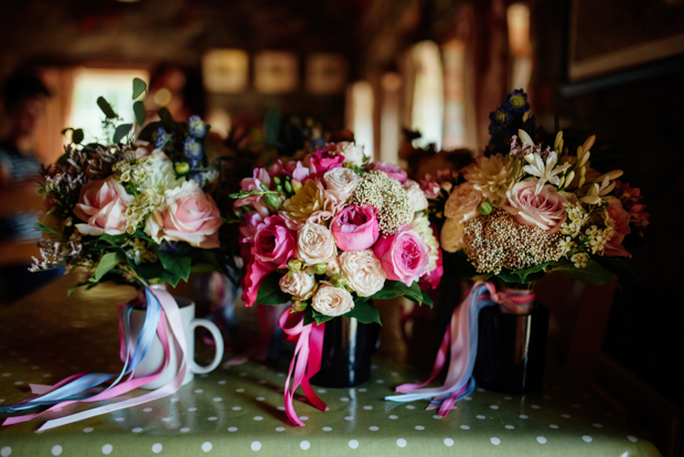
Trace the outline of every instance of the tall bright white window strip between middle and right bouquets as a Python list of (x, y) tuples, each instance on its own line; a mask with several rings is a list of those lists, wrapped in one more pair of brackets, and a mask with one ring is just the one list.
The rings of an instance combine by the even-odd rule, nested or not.
[(443, 123), (443, 73), (439, 47), (435, 42), (424, 41), (414, 45), (412, 57), (416, 65), (416, 84), (412, 113), (413, 129), (421, 138), (414, 141), (417, 147), (435, 144), (441, 148)]

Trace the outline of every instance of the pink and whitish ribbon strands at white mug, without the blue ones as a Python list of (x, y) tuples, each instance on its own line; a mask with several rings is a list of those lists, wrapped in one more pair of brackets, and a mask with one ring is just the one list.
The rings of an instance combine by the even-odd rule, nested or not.
[[(127, 407), (131, 407), (131, 406), (137, 406), (140, 405), (142, 403), (147, 403), (147, 402), (151, 402), (158, 398), (162, 398), (167, 395), (170, 395), (174, 392), (177, 392), (179, 390), (179, 387), (182, 385), (183, 380), (185, 378), (185, 372), (188, 371), (188, 358), (186, 358), (186, 341), (185, 341), (185, 334), (183, 332), (183, 325), (181, 321), (181, 316), (180, 316), (180, 310), (178, 308), (178, 304), (175, 302), (175, 300), (173, 299), (173, 297), (171, 297), (171, 295), (165, 291), (165, 290), (161, 290), (161, 289), (152, 289), (152, 294), (154, 294), (154, 296), (157, 297), (157, 299), (159, 300), (161, 308), (162, 308), (162, 312), (159, 319), (159, 323), (157, 327), (157, 333), (159, 336), (159, 340), (164, 349), (164, 353), (165, 353), (165, 360), (164, 360), (164, 364), (163, 366), (154, 374), (151, 374), (149, 376), (145, 376), (145, 378), (135, 378), (135, 372), (130, 373), (127, 381), (115, 385), (114, 387), (104, 391), (100, 394), (97, 394), (95, 396), (92, 396), (89, 398), (84, 398), (84, 400), (78, 400), (78, 401), (66, 401), (66, 402), (61, 402), (57, 403), (56, 405), (42, 411), (40, 413), (34, 413), (34, 414), (28, 414), (28, 415), (23, 415), (23, 416), (15, 416), (15, 417), (9, 417), (4, 421), (3, 425), (11, 425), (11, 424), (18, 424), (21, 422), (26, 422), (26, 421), (31, 421), (44, 413), (47, 413), (49, 411), (58, 411), (67, 405), (71, 405), (73, 403), (93, 403), (93, 402), (99, 402), (103, 400), (109, 400), (113, 398), (115, 396), (125, 394), (127, 392), (130, 392), (141, 385), (145, 385), (149, 382), (154, 381), (157, 378), (159, 378), (163, 371), (169, 366), (171, 357), (170, 357), (170, 340), (171, 341), (177, 341), (178, 346), (181, 349), (181, 366), (177, 373), (177, 375), (173, 378), (173, 380), (141, 396), (135, 397), (135, 398), (129, 398), (129, 400), (125, 400), (121, 402), (117, 402), (117, 403), (111, 403), (105, 406), (100, 406), (100, 407), (96, 407), (93, 410), (88, 410), (88, 411), (84, 411), (81, 413), (76, 413), (76, 414), (72, 414), (72, 415), (67, 415), (57, 419), (52, 419), (52, 421), (47, 421), (45, 424), (43, 424), (39, 429), (40, 431), (45, 431), (45, 429), (50, 429), (50, 428), (55, 428), (62, 425), (66, 425), (66, 424), (71, 424), (74, 422), (78, 422), (78, 421), (83, 421), (89, 417), (95, 417), (98, 416), (100, 414), (106, 414), (106, 413), (111, 413), (114, 411), (118, 411), (118, 410), (124, 410)], [(169, 333), (168, 329), (167, 329), (167, 319), (164, 319), (164, 315), (167, 317), (167, 319), (169, 320), (170, 327), (171, 327), (171, 334)], [(128, 357), (130, 355), (130, 350), (129, 353), (126, 354), (126, 350), (125, 347), (126, 344), (124, 343), (124, 331), (122, 328), (119, 327), (119, 337), (121, 338), (121, 355), (125, 355), (125, 359), (127, 360)], [(126, 361), (124, 360), (124, 361)], [(61, 385), (64, 385), (68, 382), (72, 382), (73, 380), (82, 376), (83, 374), (76, 374), (76, 375), (72, 375), (66, 378), (65, 380), (61, 381), (60, 383), (55, 384), (54, 386), (52, 386), (52, 389), (46, 390), (45, 386), (39, 386), (38, 390), (39, 391), (43, 391), (43, 393), (47, 393), (54, 389), (57, 389)]]

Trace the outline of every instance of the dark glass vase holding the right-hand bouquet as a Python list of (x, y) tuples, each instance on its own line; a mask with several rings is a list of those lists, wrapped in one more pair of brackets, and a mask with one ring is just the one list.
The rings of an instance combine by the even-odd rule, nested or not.
[(480, 311), (478, 385), (505, 393), (530, 393), (542, 389), (548, 333), (548, 308), (535, 304), (528, 315), (506, 315), (499, 306)]

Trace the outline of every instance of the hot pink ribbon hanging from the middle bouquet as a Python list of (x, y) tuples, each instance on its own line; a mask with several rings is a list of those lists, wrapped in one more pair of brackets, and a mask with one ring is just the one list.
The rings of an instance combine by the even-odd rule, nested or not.
[[(313, 406), (323, 412), (328, 408), (325, 403), (313, 392), (309, 383), (311, 376), (321, 369), (325, 323), (304, 326), (304, 313), (301, 311), (290, 312), (290, 309), (285, 310), (278, 322), (286, 339), (296, 344), (295, 355), (290, 362), (290, 371), (285, 381), (285, 412), (292, 423), (303, 427), (304, 423), (301, 422), (292, 405), (295, 391), (297, 391), (300, 384), (304, 395)], [(290, 378), (292, 378), (291, 390)]]

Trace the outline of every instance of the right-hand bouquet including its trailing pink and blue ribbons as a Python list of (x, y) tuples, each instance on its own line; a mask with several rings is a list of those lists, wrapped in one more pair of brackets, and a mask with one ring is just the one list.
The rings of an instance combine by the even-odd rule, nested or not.
[[(483, 276), (455, 311), (430, 379), (388, 397), (434, 398), (431, 407), (440, 405), (442, 416), (474, 387), (480, 309), (499, 304), (504, 313), (528, 313), (534, 284), (552, 272), (588, 285), (612, 281), (613, 273), (628, 270), (620, 259), (631, 256), (623, 241), (649, 219), (639, 189), (618, 181), (622, 171), (591, 167), (594, 136), (567, 147), (558, 131), (553, 145), (538, 144), (524, 92), (511, 93), (490, 119), (484, 156), (459, 172), (421, 181), (431, 216), (442, 222), (442, 249), (466, 263), (469, 276)], [(424, 389), (449, 350), (447, 383)]]

